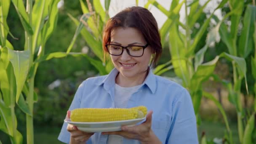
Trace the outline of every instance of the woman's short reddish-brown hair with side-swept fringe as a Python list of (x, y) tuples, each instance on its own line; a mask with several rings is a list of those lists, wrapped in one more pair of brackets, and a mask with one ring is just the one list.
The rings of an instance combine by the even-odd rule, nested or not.
[(104, 50), (104, 59), (107, 53), (106, 44), (110, 43), (112, 29), (116, 27), (133, 27), (141, 31), (146, 42), (152, 48), (152, 63), (155, 65), (162, 53), (160, 33), (157, 27), (157, 21), (147, 8), (133, 6), (125, 8), (109, 19), (104, 27), (102, 44)]

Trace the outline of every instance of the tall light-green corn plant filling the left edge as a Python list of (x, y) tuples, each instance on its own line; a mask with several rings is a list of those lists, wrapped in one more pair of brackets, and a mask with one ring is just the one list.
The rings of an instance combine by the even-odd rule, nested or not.
[[(24, 51), (14, 51), (7, 40), (6, 19), (10, 3), (14, 5), (25, 33)], [(38, 62), (44, 56), (45, 43), (56, 27), (59, 0), (0, 0), (0, 130), (10, 136), (12, 144), (21, 144), (14, 109), (26, 114), (27, 143), (34, 143), (33, 104), (37, 101), (34, 80)], [(34, 3), (34, 4), (33, 4)]]

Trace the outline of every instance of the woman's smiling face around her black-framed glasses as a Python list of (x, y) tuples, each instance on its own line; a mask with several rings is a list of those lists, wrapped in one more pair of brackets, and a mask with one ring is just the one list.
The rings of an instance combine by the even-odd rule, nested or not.
[[(132, 27), (117, 27), (111, 31), (110, 44), (128, 46), (128, 45), (141, 45), (147, 44), (142, 33)], [(112, 63), (115, 68), (120, 72), (123, 77), (137, 79), (144, 78), (147, 71), (149, 61), (152, 55), (151, 47), (147, 46), (144, 49), (144, 53), (141, 57), (130, 56), (126, 49), (124, 49), (122, 55), (111, 56)]]

